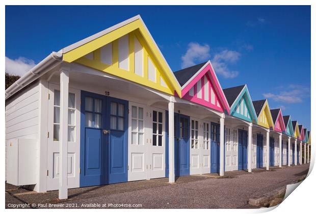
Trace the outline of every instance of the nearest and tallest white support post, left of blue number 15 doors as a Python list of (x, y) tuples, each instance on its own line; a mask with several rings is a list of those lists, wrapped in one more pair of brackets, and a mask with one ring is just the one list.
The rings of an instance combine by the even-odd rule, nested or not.
[(68, 198), (68, 84), (69, 71), (60, 71), (60, 139), (59, 139), (59, 199)]

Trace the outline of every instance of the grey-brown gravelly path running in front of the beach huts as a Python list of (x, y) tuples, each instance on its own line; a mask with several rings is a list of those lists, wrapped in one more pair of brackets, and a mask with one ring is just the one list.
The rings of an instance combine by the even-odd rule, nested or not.
[[(79, 194), (83, 188), (78, 188), (69, 190), (70, 200), (61, 203), (56, 203), (58, 202), (55, 196), (57, 191), (42, 195), (50, 199), (54, 196), (54, 203), (64, 208), (69, 205), (74, 208), (85, 208), (84, 206), (88, 205), (90, 208), (95, 204), (100, 204), (100, 208), (109, 208), (109, 204), (114, 205), (110, 208), (123, 208), (120, 204), (141, 204), (141, 208), (253, 208), (248, 205), (249, 198), (261, 196), (281, 186), (296, 182), (306, 176), (308, 168), (309, 164), (275, 167), (271, 168), (271, 171), (259, 169), (254, 170), (254, 173), (237, 171), (228, 173), (231, 176), (228, 178), (184, 176), (178, 178), (175, 184), (167, 183), (167, 178), (110, 184), (99, 189), (95, 187), (86, 189), (85, 194), (90, 193), (90, 195)], [(144, 185), (145, 183), (148, 183), (148, 186)], [(71, 196), (71, 191), (77, 191), (77, 193), (74, 192)], [(50, 197), (48, 197), (49, 194)], [(31, 203), (31, 199), (28, 201), (27, 197), (34, 200), (36, 195), (41, 194), (26, 195), (26, 198), (15, 197)], [(7, 196), (8, 193), (6, 193), (6, 202)], [(8, 200), (14, 201), (16, 198), (8, 196)], [(102, 204), (106, 204), (106, 207), (102, 207)]]

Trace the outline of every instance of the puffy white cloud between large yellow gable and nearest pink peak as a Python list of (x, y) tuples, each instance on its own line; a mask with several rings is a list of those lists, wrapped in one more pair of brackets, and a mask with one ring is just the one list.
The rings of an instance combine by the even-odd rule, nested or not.
[(181, 68), (193, 66), (196, 61), (207, 60), (209, 57), (209, 46), (207, 44), (200, 45), (196, 42), (190, 42), (186, 54), (181, 57)]

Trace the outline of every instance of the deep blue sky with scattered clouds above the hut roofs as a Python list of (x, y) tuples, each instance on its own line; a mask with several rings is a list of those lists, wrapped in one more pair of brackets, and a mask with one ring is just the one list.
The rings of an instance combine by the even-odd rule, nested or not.
[(6, 6), (6, 70), (137, 14), (173, 71), (211, 60), (223, 88), (246, 83), (310, 128), (309, 6)]

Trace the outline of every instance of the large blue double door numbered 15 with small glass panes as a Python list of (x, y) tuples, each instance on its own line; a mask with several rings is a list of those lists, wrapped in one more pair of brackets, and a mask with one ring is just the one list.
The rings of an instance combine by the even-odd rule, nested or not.
[(81, 92), (80, 186), (127, 181), (127, 106), (125, 100)]

